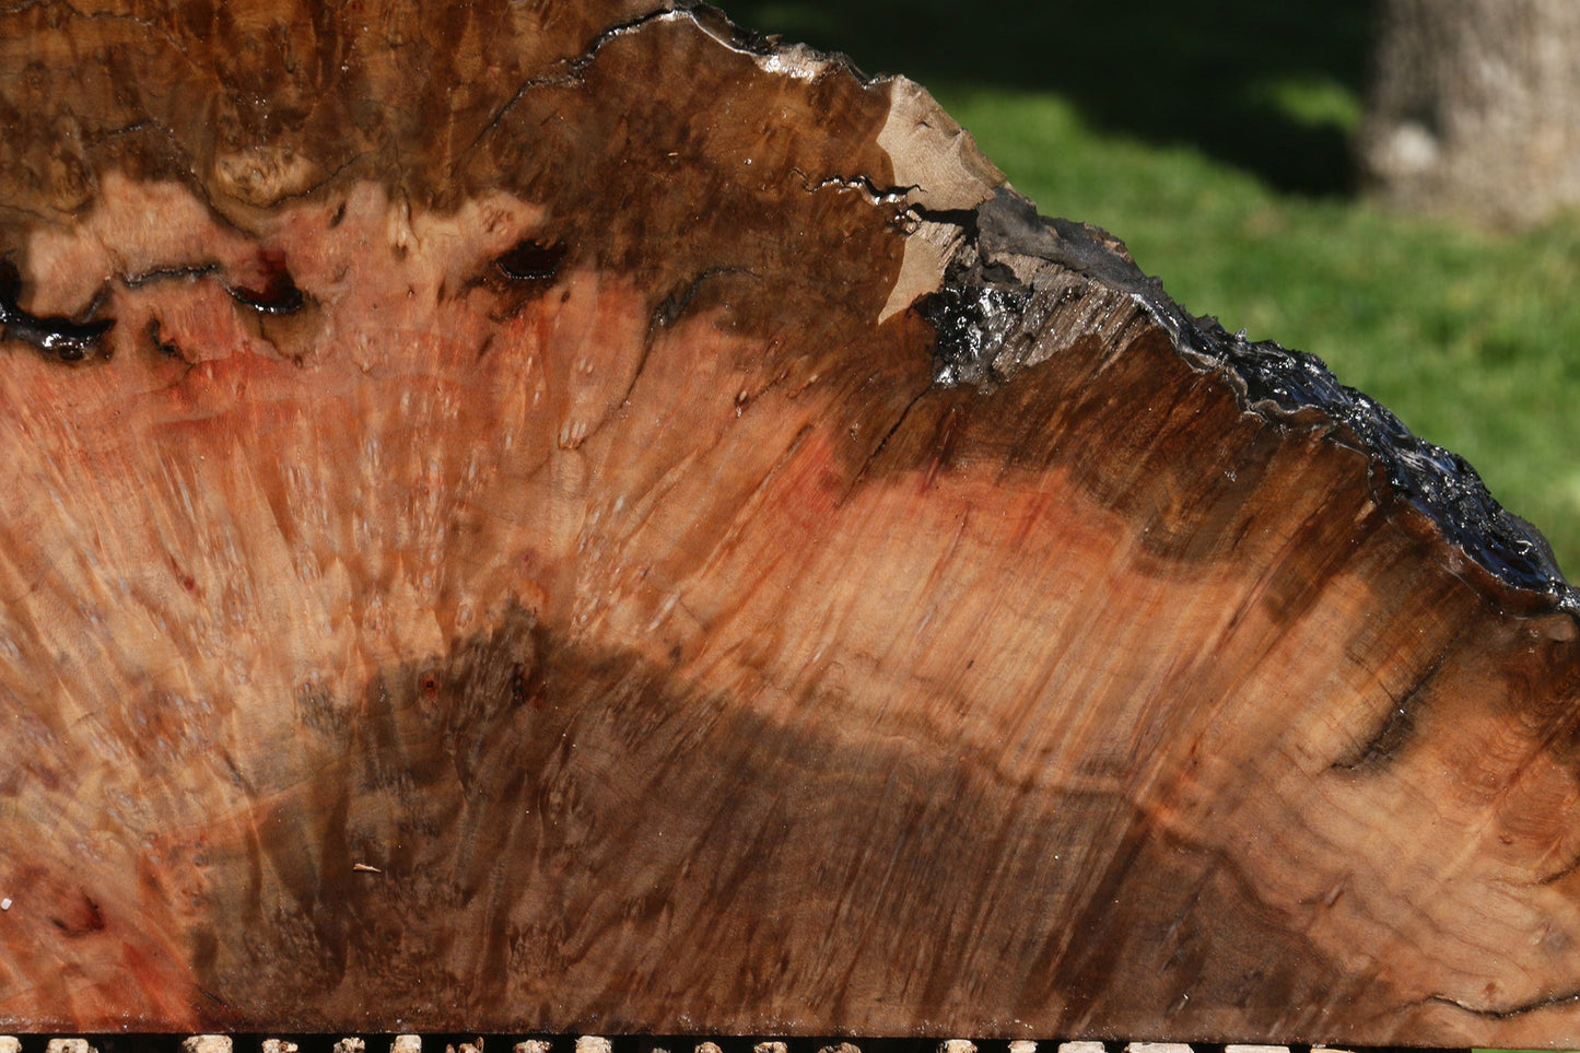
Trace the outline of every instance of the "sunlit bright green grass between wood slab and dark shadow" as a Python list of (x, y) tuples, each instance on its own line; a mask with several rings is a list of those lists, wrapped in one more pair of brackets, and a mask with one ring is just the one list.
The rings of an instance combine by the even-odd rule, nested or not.
[(1044, 212), (1125, 239), (1191, 311), (1321, 356), (1465, 455), (1580, 568), (1580, 223), (1495, 236), (1406, 220), (1098, 134), (1055, 95), (940, 95)]

